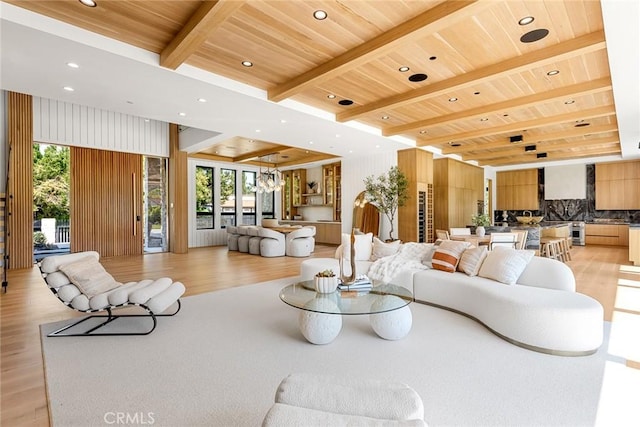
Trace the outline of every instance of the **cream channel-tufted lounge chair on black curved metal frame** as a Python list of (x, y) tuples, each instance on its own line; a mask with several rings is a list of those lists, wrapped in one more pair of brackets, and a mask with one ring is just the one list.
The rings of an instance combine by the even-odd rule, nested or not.
[[(99, 259), (97, 252), (89, 251), (49, 256), (38, 263), (47, 286), (66, 306), (83, 313), (106, 312), (83, 317), (47, 336), (148, 335), (155, 329), (157, 317), (173, 316), (180, 311), (179, 298), (185, 292), (182, 283), (164, 277), (121, 284), (104, 270)], [(165, 313), (172, 306), (175, 309)], [(145, 313), (130, 314), (127, 310), (126, 314), (113, 314), (115, 309), (124, 307), (137, 307)], [(121, 317), (146, 317), (151, 320), (151, 325), (138, 332), (129, 332), (129, 329), (125, 332), (100, 330)], [(89, 325), (88, 329), (86, 325)]]

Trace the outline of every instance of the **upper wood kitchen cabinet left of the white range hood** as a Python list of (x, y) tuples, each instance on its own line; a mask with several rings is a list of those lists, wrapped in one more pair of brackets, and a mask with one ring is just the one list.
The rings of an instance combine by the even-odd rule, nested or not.
[(496, 209), (539, 210), (538, 169), (496, 173)]

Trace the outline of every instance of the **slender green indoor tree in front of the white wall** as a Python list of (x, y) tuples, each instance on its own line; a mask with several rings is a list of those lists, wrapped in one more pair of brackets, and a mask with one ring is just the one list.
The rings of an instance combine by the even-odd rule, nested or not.
[(397, 166), (392, 166), (386, 174), (377, 178), (373, 175), (366, 177), (364, 186), (367, 201), (389, 220), (389, 240), (394, 240), (393, 220), (398, 208), (404, 206), (409, 198), (409, 180)]

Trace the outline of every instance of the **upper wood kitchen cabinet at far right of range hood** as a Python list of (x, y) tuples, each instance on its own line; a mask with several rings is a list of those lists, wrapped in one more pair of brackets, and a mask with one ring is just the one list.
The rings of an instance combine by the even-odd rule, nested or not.
[(640, 161), (596, 164), (596, 209), (640, 209)]

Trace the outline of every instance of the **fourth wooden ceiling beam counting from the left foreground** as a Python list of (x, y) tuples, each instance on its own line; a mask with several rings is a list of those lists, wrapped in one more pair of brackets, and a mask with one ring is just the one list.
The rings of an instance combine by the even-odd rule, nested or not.
[(611, 79), (609, 77), (603, 77), (601, 79), (578, 83), (571, 86), (560, 87), (548, 92), (535, 93), (533, 95), (524, 96), (522, 98), (509, 99), (507, 101), (497, 102), (492, 105), (483, 105), (481, 107), (458, 111), (456, 113), (446, 114), (444, 116), (434, 117), (432, 119), (419, 120), (417, 122), (407, 123), (399, 126), (391, 126), (383, 129), (382, 134), (384, 136), (399, 135), (416, 129), (426, 129), (433, 126), (442, 126), (459, 120), (473, 119), (476, 117), (487, 117), (497, 113), (502, 114), (512, 109), (527, 108), (543, 102), (553, 102), (559, 99), (565, 99), (567, 97), (589, 95), (605, 90), (611, 90)]

